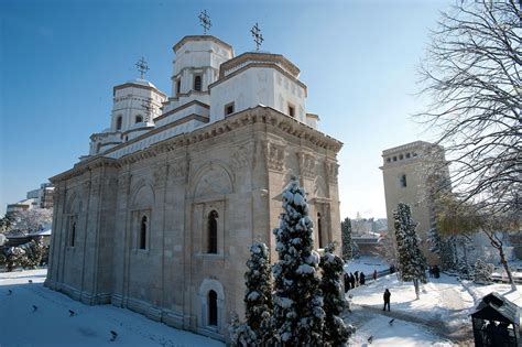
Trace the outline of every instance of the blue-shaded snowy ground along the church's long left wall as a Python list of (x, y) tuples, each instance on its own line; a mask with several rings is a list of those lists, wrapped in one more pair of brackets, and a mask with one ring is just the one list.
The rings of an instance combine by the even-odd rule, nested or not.
[[(84, 305), (44, 288), (45, 275), (46, 270), (0, 273), (0, 346), (224, 346), (129, 310)], [(118, 333), (115, 341), (110, 330)]]

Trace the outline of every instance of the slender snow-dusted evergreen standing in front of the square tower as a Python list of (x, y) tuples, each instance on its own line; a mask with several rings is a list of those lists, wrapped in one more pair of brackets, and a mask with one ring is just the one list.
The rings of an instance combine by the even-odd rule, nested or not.
[(412, 219), (410, 206), (399, 203), (393, 213), (395, 219), (395, 238), (399, 252), (401, 279), (413, 281), (415, 294), (420, 299), (420, 283), (426, 283), (426, 258), (418, 248), (418, 238), (415, 232), (416, 223)]

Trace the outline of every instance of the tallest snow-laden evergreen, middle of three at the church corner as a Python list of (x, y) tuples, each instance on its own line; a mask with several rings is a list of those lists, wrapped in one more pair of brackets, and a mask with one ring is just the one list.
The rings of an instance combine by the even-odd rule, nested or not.
[(283, 191), (283, 213), (274, 229), (279, 261), (274, 274), (274, 328), (284, 346), (323, 345), (323, 295), (313, 250), (313, 223), (305, 191), (293, 176)]

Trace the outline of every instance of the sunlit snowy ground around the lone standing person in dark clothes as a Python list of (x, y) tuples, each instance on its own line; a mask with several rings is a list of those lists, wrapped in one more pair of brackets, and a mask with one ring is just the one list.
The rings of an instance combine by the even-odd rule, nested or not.
[[(392, 293), (390, 313), (382, 312), (382, 295), (387, 288)], [(382, 343), (382, 346), (446, 344), (444, 341), (445, 338), (441, 336), (466, 345), (471, 338), (471, 321), (469, 315), (474, 312), (480, 300), (493, 291), (504, 294), (519, 306), (522, 305), (522, 285), (518, 285), (518, 290), (512, 291), (509, 284), (493, 283), (480, 285), (470, 281), (460, 282), (457, 278), (446, 274), (441, 274), (439, 279), (429, 279), (428, 283), (423, 284), (420, 300), (415, 297), (412, 282), (401, 282), (396, 279), (396, 274), (389, 274), (378, 279), (376, 282), (350, 290), (347, 295), (352, 296), (351, 301), (355, 304), (355, 310), (359, 307), (372, 314), (385, 314), (385, 316), (380, 317), (381, 321), (374, 321), (373, 323), (363, 322), (361, 325), (360, 332), (366, 338), (369, 335), (376, 336), (372, 346), (376, 345), (376, 339)], [(391, 326), (387, 326), (391, 318), (406, 322), (399, 325), (394, 324), (392, 329)], [(415, 325), (409, 326), (409, 323), (420, 324), (421, 327), (415, 327)], [(411, 344), (406, 338), (403, 338), (402, 343), (399, 344), (393, 338), (400, 337), (398, 334), (403, 334), (403, 332), (401, 329), (395, 332), (398, 329), (396, 326), (410, 330), (411, 334), (421, 334), (423, 328), (432, 329), (432, 333), (418, 335), (418, 338), (415, 337), (410, 341)], [(369, 329), (370, 327), (371, 329)]]

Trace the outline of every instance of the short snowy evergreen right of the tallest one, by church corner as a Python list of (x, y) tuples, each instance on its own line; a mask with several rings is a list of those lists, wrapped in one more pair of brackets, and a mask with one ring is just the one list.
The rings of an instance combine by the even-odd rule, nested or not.
[(346, 346), (348, 338), (355, 329), (351, 325), (345, 324), (340, 317), (346, 307), (340, 282), (345, 262), (334, 253), (334, 250), (335, 245), (333, 243), (325, 248), (325, 253), (320, 257), (319, 264), (323, 269), (320, 290), (324, 296), (323, 308), (325, 311), (323, 346)]

